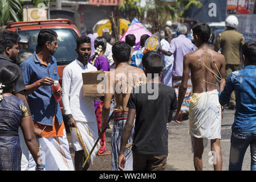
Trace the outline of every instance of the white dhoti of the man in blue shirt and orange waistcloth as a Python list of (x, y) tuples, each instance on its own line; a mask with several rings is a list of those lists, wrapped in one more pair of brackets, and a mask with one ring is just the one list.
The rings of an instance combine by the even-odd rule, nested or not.
[[(46, 171), (74, 171), (74, 164), (70, 155), (66, 132), (63, 137), (42, 137), (40, 143), (40, 156)], [(35, 161), (30, 154), (29, 171), (35, 171)]]

